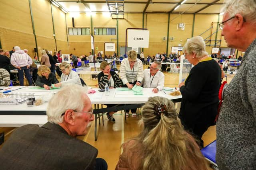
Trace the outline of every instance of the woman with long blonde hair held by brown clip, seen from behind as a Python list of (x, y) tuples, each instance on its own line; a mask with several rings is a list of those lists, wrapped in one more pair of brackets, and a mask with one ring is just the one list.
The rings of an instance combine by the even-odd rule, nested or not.
[(184, 131), (170, 100), (150, 97), (139, 124), (142, 132), (122, 145), (116, 170), (207, 170), (204, 156)]

